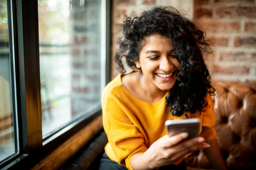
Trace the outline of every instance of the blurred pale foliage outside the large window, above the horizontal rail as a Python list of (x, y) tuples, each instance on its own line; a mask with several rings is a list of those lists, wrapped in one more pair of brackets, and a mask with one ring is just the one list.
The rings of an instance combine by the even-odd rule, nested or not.
[(39, 43), (70, 44), (70, 2), (38, 0)]

